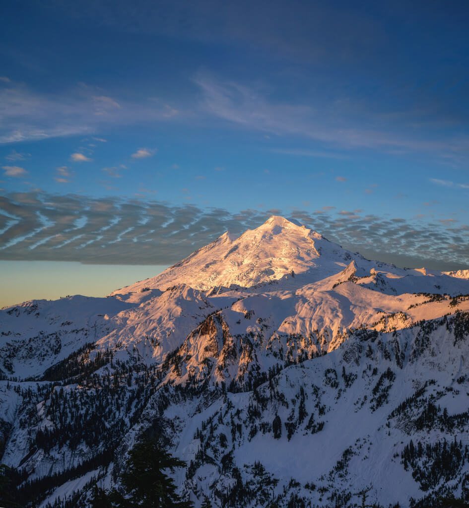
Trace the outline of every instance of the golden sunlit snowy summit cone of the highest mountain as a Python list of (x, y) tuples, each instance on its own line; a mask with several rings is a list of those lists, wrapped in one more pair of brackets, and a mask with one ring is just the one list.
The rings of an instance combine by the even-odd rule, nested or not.
[(339, 245), (297, 220), (272, 215), (239, 238), (224, 233), (160, 275), (126, 288), (126, 292), (138, 292), (140, 286), (164, 290), (180, 283), (203, 291), (214, 286), (291, 284), (293, 274), (306, 273), (308, 280), (315, 281), (343, 270), (344, 262), (351, 259)]

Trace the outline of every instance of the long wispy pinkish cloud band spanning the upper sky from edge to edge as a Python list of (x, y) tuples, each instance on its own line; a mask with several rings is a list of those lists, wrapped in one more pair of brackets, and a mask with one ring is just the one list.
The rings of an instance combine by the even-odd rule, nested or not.
[[(129, 101), (83, 83), (47, 94), (6, 82), (0, 87), (0, 144), (178, 119), (195, 125), (216, 121), (224, 127), (259, 131), (267, 138), (295, 138), (305, 148), (276, 151), (297, 156), (347, 158), (352, 150), (370, 149), (388, 154), (436, 154), (444, 164), (461, 164), (469, 158), (466, 134), (453, 136), (441, 130), (435, 137), (434, 128), (416, 130), (412, 115), (373, 113), (368, 104), (351, 105), (340, 96), (329, 101), (297, 97), (282, 102), (272, 99), (265, 83), (225, 81), (202, 73), (193, 84), (192, 91), (177, 99), (185, 105), (181, 108), (151, 97)], [(148, 148), (139, 150), (132, 154), (134, 158), (154, 154)]]

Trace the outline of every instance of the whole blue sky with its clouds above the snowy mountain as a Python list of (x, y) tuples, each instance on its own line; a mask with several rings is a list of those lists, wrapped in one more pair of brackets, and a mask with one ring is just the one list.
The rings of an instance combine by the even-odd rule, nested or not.
[(272, 212), (369, 257), (467, 267), (466, 3), (323, 4), (4, 6), (8, 272), (117, 263), (130, 283)]

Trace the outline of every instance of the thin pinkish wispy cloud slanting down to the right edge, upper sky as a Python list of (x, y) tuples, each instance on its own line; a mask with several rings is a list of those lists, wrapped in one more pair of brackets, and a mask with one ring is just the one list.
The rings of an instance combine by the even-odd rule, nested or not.
[[(409, 152), (437, 154), (442, 162), (467, 160), (469, 137), (451, 137), (441, 131), (435, 139), (429, 132), (415, 132), (415, 116), (373, 113), (363, 102), (354, 105), (348, 100), (314, 102), (272, 100), (265, 85), (249, 86), (199, 74), (194, 83), (200, 89), (201, 112), (224, 120), (238, 128), (261, 131), (277, 136), (292, 136), (321, 143), (341, 150), (373, 149), (393, 154)], [(285, 151), (285, 150), (284, 150)], [(308, 151), (311, 155), (317, 150)], [(301, 150), (292, 149), (291, 154)], [(332, 156), (330, 150), (317, 154)], [(316, 155), (318, 156), (318, 155)]]

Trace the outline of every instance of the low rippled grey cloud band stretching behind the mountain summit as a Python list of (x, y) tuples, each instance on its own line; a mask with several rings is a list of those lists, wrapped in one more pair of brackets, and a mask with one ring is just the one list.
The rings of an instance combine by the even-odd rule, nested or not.
[(435, 269), (469, 266), (469, 225), (452, 217), (425, 221), (334, 207), (230, 212), (173, 206), (146, 194), (139, 200), (40, 192), (0, 196), (0, 259), (169, 265), (227, 230), (242, 233), (274, 213), (369, 258)]

